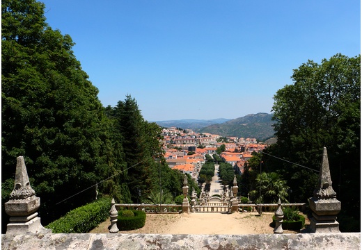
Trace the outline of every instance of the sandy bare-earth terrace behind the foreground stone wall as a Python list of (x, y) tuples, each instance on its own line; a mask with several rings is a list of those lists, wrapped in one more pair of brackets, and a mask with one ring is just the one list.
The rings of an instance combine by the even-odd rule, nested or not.
[[(157, 234), (258, 234), (274, 233), (272, 216), (274, 213), (190, 213), (176, 215), (147, 214), (145, 226), (120, 233), (157, 233)], [(306, 221), (307, 224), (307, 221)], [(90, 233), (108, 233), (109, 219)], [(284, 231), (284, 233), (298, 233)]]

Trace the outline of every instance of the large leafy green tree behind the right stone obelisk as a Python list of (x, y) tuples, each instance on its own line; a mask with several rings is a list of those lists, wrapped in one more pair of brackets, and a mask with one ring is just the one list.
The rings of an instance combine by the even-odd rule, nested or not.
[(361, 56), (336, 54), (320, 64), (308, 60), (294, 69), (292, 79), (294, 84), (286, 85), (274, 96), (278, 142), (267, 152), (298, 165), (269, 156), (265, 156), (265, 162), (289, 181), (295, 199), (306, 201), (318, 177), (310, 169), (319, 171), (326, 147), (333, 188), (343, 204), (340, 215), (359, 222)]

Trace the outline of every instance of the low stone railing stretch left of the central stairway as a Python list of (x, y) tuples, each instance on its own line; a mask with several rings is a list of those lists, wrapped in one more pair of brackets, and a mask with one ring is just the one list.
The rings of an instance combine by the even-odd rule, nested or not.
[(178, 204), (114, 204), (117, 210), (120, 208), (129, 210), (142, 210), (145, 213), (182, 213), (182, 205)]

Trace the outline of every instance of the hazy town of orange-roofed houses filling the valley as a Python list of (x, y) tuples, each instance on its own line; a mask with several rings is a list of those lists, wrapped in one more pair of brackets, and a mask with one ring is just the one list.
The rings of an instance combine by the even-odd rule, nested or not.
[(182, 130), (175, 127), (164, 128), (162, 135), (168, 167), (190, 174), (195, 180), (205, 163), (205, 155), (212, 156), (217, 153), (217, 148), (222, 144), (225, 145), (225, 151), (220, 154), (221, 159), (233, 165), (239, 174), (244, 172), (244, 164), (252, 157), (251, 153), (262, 151), (266, 147), (255, 138), (227, 137), (228, 142), (223, 142), (220, 135), (195, 133), (190, 129)]

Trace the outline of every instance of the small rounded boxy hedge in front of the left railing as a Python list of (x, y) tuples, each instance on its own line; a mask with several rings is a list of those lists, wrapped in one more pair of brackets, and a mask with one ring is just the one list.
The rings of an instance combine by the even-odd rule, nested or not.
[(125, 217), (122, 214), (127, 210), (118, 211), (117, 227), (120, 231), (129, 231), (145, 226), (145, 212), (132, 210), (134, 217)]

